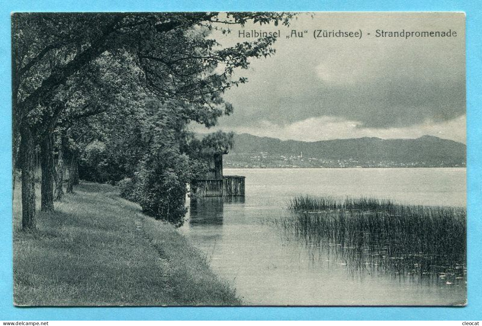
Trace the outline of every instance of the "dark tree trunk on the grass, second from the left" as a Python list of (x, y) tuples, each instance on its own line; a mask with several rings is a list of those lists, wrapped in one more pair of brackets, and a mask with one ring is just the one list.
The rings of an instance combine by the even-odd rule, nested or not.
[(40, 186), (41, 205), (43, 212), (54, 211), (54, 137), (48, 135), (40, 144), (40, 160), (42, 182)]

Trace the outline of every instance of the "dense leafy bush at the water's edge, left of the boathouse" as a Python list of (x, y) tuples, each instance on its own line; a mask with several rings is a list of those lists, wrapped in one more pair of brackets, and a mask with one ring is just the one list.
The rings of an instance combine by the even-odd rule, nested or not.
[(177, 101), (147, 101), (141, 135), (146, 151), (134, 177), (120, 183), (121, 195), (140, 204), (148, 215), (175, 225), (182, 224), (186, 185), (200, 165), (190, 162), (180, 150), (179, 143), (188, 133), (186, 120), (179, 114), (180, 105)]

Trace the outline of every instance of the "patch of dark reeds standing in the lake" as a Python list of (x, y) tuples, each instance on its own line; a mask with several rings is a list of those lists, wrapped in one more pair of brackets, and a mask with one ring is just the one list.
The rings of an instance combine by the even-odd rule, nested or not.
[(354, 272), (465, 283), (465, 208), (297, 196), (288, 209), (290, 214), (274, 221), (286, 235), (341, 260)]

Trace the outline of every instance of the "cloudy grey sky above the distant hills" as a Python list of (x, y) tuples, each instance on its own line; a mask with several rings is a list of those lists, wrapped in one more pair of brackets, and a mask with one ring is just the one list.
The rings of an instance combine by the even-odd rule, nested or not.
[[(240, 71), (248, 83), (226, 94), (235, 111), (218, 129), (305, 141), (433, 135), (465, 143), (462, 14), (300, 14), (290, 27), (243, 29), (280, 29), (281, 37), (274, 56), (253, 59)], [(286, 39), (292, 29), (308, 33)], [(314, 29), (363, 34), (315, 40)], [(377, 29), (451, 29), (457, 37), (376, 38)], [(225, 45), (246, 40), (238, 29), (214, 36)]]

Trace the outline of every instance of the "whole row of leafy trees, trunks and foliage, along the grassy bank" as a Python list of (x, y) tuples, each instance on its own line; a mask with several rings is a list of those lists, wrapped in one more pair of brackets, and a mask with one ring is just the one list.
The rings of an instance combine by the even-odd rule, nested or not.
[(130, 177), (147, 213), (183, 215), (201, 152), (229, 143), (224, 134), (199, 141), (187, 125), (211, 127), (230, 114), (222, 95), (246, 82), (234, 71), (274, 53), (272, 37), (223, 47), (210, 34), (249, 21), (288, 25), (292, 16), (13, 14), (13, 178), (20, 170), (23, 229), (36, 226), (36, 153), (43, 211), (61, 199), (67, 166), (67, 192), (79, 177)]

